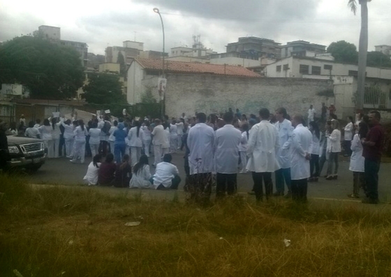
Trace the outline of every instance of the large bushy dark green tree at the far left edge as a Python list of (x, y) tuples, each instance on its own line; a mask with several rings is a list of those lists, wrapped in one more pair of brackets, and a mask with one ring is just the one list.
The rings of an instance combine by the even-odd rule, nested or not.
[(83, 70), (73, 48), (40, 37), (17, 37), (0, 46), (0, 82), (23, 84), (31, 98), (73, 98), (82, 87)]

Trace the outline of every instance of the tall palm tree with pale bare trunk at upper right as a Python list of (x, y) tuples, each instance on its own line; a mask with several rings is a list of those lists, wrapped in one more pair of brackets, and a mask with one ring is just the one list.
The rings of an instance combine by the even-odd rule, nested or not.
[(357, 12), (357, 1), (361, 6), (361, 30), (358, 43), (358, 75), (357, 75), (357, 99), (356, 108), (362, 110), (364, 107), (365, 75), (367, 72), (368, 54), (368, 2), (371, 0), (348, 0), (348, 6), (353, 13)]

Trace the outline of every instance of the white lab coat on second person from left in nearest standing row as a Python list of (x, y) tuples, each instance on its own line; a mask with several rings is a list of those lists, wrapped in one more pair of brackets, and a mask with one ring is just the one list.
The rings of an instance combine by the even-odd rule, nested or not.
[(231, 124), (226, 124), (223, 128), (216, 130), (214, 163), (217, 173), (237, 173), (240, 140), (242, 140), (242, 133)]

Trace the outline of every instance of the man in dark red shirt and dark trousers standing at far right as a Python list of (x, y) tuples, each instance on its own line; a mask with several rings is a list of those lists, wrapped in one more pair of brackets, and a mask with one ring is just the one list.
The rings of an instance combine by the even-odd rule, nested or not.
[(381, 151), (383, 149), (384, 130), (379, 123), (381, 119), (378, 111), (369, 112), (369, 130), (367, 137), (361, 140), (362, 156), (365, 158), (364, 174), (367, 187), (367, 198), (362, 203), (378, 203), (378, 171), (381, 163)]

